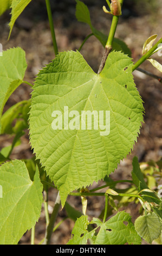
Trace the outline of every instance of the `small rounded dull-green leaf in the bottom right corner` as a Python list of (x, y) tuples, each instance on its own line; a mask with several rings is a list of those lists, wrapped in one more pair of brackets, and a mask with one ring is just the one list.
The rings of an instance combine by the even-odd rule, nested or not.
[(161, 223), (154, 212), (138, 217), (134, 226), (137, 233), (148, 243), (152, 243), (161, 233)]

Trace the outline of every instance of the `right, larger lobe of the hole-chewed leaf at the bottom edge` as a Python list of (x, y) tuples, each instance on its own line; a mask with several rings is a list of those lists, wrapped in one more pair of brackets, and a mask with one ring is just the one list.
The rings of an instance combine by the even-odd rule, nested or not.
[(105, 223), (99, 222), (96, 218), (93, 218), (90, 223), (95, 223), (100, 227), (99, 233), (95, 237), (95, 245), (124, 245), (126, 242), (129, 245), (140, 245), (141, 243), (131, 216), (125, 211), (118, 212)]

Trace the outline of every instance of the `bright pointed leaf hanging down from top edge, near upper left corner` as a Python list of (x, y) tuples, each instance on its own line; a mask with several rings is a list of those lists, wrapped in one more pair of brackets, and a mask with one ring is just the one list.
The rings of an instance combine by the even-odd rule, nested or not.
[(11, 21), (9, 23), (10, 26), (10, 34), (12, 32), (12, 28), (14, 27), (15, 21), (17, 20), (18, 16), (22, 13), (22, 11), (27, 7), (27, 5), (31, 2), (31, 0), (12, 0), (11, 4)]

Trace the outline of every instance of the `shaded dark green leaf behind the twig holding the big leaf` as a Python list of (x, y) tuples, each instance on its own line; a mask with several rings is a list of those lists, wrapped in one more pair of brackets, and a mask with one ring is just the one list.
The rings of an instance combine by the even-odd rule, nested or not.
[[(98, 38), (98, 40), (101, 42), (103, 47), (105, 47), (106, 42), (107, 42), (107, 35), (103, 34), (101, 31), (98, 31), (93, 25), (90, 20), (90, 14), (88, 7), (85, 3), (76, 0), (76, 19), (80, 22), (87, 23), (92, 30), (93, 34)], [(113, 39), (113, 44), (112, 44), (113, 50), (116, 51), (122, 51), (125, 54), (128, 54), (129, 57), (131, 57), (131, 50), (129, 50), (128, 46), (125, 44), (124, 41), (114, 38)]]

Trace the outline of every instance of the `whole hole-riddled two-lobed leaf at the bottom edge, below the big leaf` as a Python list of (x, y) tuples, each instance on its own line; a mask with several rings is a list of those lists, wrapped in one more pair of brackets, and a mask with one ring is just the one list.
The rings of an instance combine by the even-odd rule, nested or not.
[[(89, 224), (96, 224), (96, 228), (88, 232)], [(100, 228), (97, 235), (96, 229)], [(88, 239), (92, 239), (94, 245), (140, 245), (141, 238), (135, 231), (131, 216), (124, 211), (118, 212), (105, 223), (98, 218), (88, 221), (88, 216), (81, 216), (75, 222), (72, 239), (68, 245), (85, 245)]]

